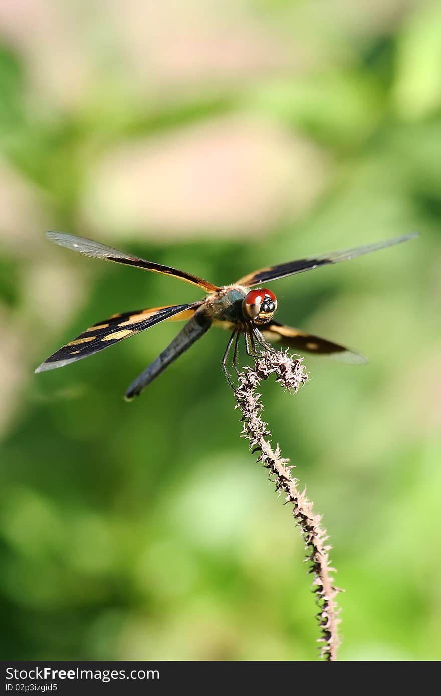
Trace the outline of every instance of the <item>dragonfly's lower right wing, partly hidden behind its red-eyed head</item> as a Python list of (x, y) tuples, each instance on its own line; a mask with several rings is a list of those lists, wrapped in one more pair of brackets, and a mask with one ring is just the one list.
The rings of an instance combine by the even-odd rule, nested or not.
[(292, 329), (291, 326), (270, 322), (270, 324), (265, 325), (262, 333), (267, 340), (288, 348), (294, 348), (301, 353), (307, 351), (307, 353), (315, 353), (316, 355), (328, 355), (343, 363), (358, 365), (367, 363), (367, 359), (359, 353), (355, 353), (338, 343), (327, 341), (325, 338)]

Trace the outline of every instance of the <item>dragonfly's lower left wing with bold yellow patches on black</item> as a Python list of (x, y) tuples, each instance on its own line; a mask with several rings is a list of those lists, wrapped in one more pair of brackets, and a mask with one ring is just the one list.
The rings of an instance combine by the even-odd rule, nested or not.
[[(55, 367), (63, 367), (70, 363), (86, 358), (93, 353), (108, 348), (125, 338), (134, 336), (135, 333), (146, 331), (155, 324), (160, 324), (167, 319), (180, 319), (192, 316), (196, 309), (203, 305), (204, 301), (191, 305), (174, 305), (169, 307), (155, 307), (154, 309), (116, 314), (110, 319), (98, 322), (90, 329), (80, 333), (75, 340), (63, 346), (53, 353), (44, 363), (36, 368), (36, 372), (54, 370)], [(183, 315), (183, 317), (180, 317)]]

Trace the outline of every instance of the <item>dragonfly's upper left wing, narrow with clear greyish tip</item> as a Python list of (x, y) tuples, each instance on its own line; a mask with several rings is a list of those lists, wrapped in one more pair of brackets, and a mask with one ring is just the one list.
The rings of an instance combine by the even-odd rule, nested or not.
[(65, 246), (65, 248), (72, 249), (72, 251), (77, 251), (85, 256), (107, 259), (108, 261), (121, 263), (125, 266), (134, 266), (136, 268), (142, 268), (145, 271), (153, 271), (153, 273), (160, 273), (164, 276), (179, 278), (180, 280), (184, 280), (185, 283), (190, 283), (191, 285), (196, 285), (196, 287), (201, 287), (206, 292), (215, 292), (216, 290), (219, 290), (217, 285), (212, 285), (212, 283), (208, 283), (206, 280), (203, 280), (203, 278), (198, 278), (198, 276), (192, 276), (192, 274), (185, 273), (185, 271), (179, 271), (178, 269), (171, 268), (170, 266), (162, 266), (162, 264), (146, 261), (138, 256), (127, 254), (124, 251), (118, 251), (118, 249), (114, 249), (111, 246), (105, 246), (105, 244), (93, 242), (91, 239), (75, 237), (75, 235), (65, 235), (63, 232), (46, 232), (46, 237), (47, 239), (50, 239), (51, 242), (54, 242), (54, 244)]

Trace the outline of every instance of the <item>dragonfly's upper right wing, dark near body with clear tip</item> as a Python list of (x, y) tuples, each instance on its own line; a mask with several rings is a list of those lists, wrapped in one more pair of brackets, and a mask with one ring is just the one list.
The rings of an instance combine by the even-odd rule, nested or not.
[(378, 251), (378, 249), (384, 249), (387, 246), (408, 242), (409, 239), (414, 239), (414, 237), (418, 236), (418, 233), (405, 235), (405, 237), (387, 239), (386, 242), (378, 242), (378, 244), (366, 244), (366, 246), (357, 246), (353, 249), (346, 249), (346, 251), (334, 251), (333, 253), (323, 254), (321, 256), (289, 261), (288, 263), (279, 264), (278, 266), (269, 266), (268, 268), (254, 271), (254, 273), (244, 278), (240, 278), (240, 280), (238, 280), (238, 285), (245, 285), (245, 287), (263, 285), (264, 283), (269, 283), (271, 280), (279, 280), (279, 278), (293, 276), (297, 273), (303, 273), (303, 271), (311, 271), (311, 269), (317, 268), (318, 266), (327, 266), (328, 264), (339, 263), (340, 261), (348, 261), (357, 256), (369, 254), (371, 251)]

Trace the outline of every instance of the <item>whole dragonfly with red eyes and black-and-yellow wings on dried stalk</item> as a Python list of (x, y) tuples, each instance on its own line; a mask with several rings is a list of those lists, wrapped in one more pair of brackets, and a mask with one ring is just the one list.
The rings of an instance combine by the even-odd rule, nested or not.
[(222, 286), (208, 283), (207, 280), (185, 271), (118, 251), (111, 246), (93, 242), (91, 239), (75, 237), (62, 232), (46, 232), (46, 236), (54, 244), (86, 256), (106, 259), (125, 266), (178, 278), (206, 292), (203, 299), (191, 304), (169, 305), (112, 315), (109, 319), (93, 324), (90, 329), (80, 333), (77, 338), (61, 347), (36, 368), (36, 372), (43, 372), (70, 365), (70, 363), (98, 353), (98, 351), (141, 333), (141, 331), (151, 329), (152, 326), (161, 322), (186, 321), (187, 323), (176, 338), (129, 386), (125, 398), (131, 400), (134, 396), (139, 395), (184, 351), (202, 338), (212, 326), (219, 326), (230, 331), (230, 337), (222, 356), (222, 370), (233, 389), (235, 386), (231, 377), (231, 369), (239, 374), (238, 355), (241, 337), (245, 342), (247, 356), (256, 357), (263, 351), (274, 351), (278, 347), (288, 347), (302, 353), (306, 351), (311, 354), (332, 356), (348, 363), (366, 363), (364, 356), (338, 343), (274, 321), (273, 317), (277, 311), (277, 297), (265, 286), (273, 280), (350, 260), (372, 251), (401, 244), (401, 242), (408, 242), (409, 239), (417, 237), (418, 233), (388, 239), (376, 244), (358, 246), (346, 249), (346, 251), (336, 251), (269, 266), (240, 278), (232, 285)]

